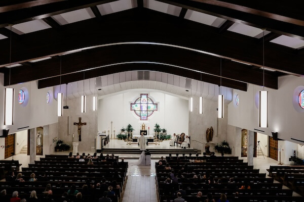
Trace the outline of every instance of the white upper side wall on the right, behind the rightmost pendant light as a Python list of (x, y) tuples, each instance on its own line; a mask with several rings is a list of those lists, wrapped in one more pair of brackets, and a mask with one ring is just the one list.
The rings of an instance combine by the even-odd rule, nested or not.
[(248, 84), (247, 92), (234, 90), (234, 95), (239, 94), (240, 104), (239, 106), (234, 105), (234, 100), (229, 104), (228, 124), (255, 132), (260, 132), (254, 130), (259, 129), (264, 131), (260, 133), (267, 135), (272, 135), (271, 131), (277, 131), (280, 139), (303, 143), (290, 139), (304, 141), (302, 133), (304, 130), (304, 110), (297, 112), (292, 104), (292, 100), (296, 99), (293, 97), (295, 88), (303, 83), (304, 77), (288, 75), (279, 77), (278, 90), (265, 88), (269, 91), (268, 128), (258, 127), (258, 108), (255, 105), (255, 99), (258, 100), (258, 97), (255, 95), (262, 87)]

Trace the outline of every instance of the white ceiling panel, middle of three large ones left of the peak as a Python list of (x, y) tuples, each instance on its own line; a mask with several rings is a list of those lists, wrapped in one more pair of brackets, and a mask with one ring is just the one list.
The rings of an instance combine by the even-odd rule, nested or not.
[(90, 18), (95, 18), (94, 13), (90, 8), (80, 9), (59, 15), (52, 16), (52, 18), (60, 25), (66, 25), (73, 22), (79, 22)]

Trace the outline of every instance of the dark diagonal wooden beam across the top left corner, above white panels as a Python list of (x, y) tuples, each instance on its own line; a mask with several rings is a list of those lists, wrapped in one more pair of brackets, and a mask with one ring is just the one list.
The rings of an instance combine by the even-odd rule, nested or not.
[(43, 0), (27, 2), (17, 6), (8, 5), (5, 7), (0, 7), (0, 28), (6, 27), (9, 24), (18, 24), (34, 19), (43, 19), (46, 17), (51, 17), (53, 15), (115, 1), (118, 0)]

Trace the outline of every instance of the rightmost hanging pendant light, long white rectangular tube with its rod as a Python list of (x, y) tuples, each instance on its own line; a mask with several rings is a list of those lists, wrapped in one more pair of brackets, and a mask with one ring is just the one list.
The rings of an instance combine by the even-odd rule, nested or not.
[(264, 62), (264, 32), (263, 29), (263, 90), (259, 91), (259, 105), (258, 105), (258, 125), (261, 128), (268, 127), (268, 91), (265, 87), (265, 62)]

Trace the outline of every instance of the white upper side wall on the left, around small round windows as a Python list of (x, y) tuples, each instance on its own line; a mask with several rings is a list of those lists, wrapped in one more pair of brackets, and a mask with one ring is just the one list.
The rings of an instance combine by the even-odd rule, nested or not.
[[(15, 103), (14, 103), (14, 125), (5, 126), (3, 120), (4, 107), (0, 107), (0, 131), (9, 128), (9, 134), (19, 131), (44, 126), (58, 122), (57, 117), (57, 101), (53, 98), (53, 88), (37, 88), (37, 82), (26, 82), (16, 85), (11, 85), (15, 88)], [(20, 105), (18, 103), (18, 93), (20, 89), (27, 89), (25, 94), (26, 101)], [(50, 92), (51, 102), (47, 104), (47, 92)], [(27, 102), (27, 104), (25, 104)], [(4, 106), (4, 75), (0, 74), (0, 106)], [(26, 127), (26, 128), (23, 128)], [(5, 138), (0, 138), (0, 145), (5, 145)], [(4, 159), (4, 150), (0, 148), (0, 159)]]

